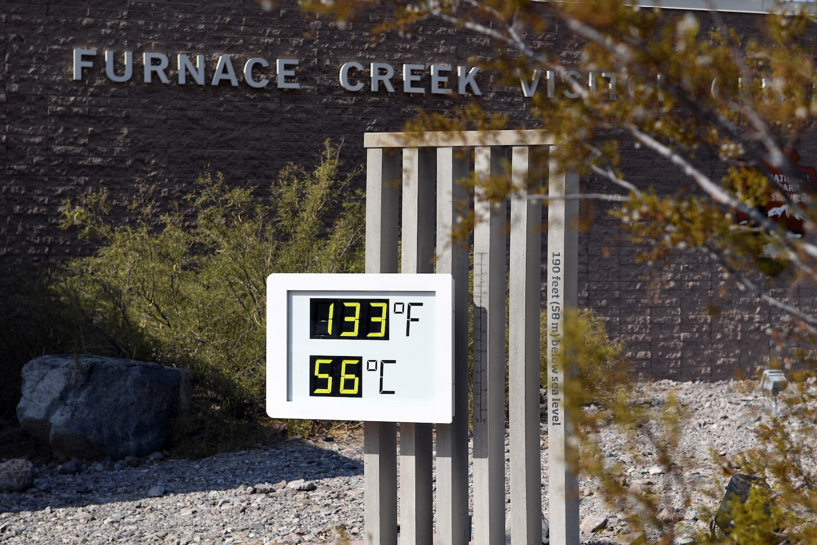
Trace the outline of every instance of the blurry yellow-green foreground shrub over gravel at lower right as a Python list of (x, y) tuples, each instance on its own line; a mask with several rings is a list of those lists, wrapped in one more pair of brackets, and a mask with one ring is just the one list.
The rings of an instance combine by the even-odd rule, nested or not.
[[(694, 426), (690, 422), (694, 413), (677, 392), (667, 392), (655, 407), (653, 400), (642, 397), (645, 392), (621, 358), (622, 345), (609, 340), (603, 323), (592, 314), (566, 315), (565, 345), (573, 347), (565, 352), (565, 364), (575, 373), (573, 380), (565, 381), (564, 391), (565, 412), (571, 415), (576, 439), (568, 445), (575, 449), (569, 462), (577, 474), (594, 480), (597, 495), (626, 520), (631, 539), (666, 545), (815, 543), (817, 378), (812, 373), (791, 373), (792, 383), (781, 395), (786, 409), (779, 418), (763, 418), (752, 427), (754, 446), (731, 457), (710, 449), (710, 463), (720, 471), (711, 480), (699, 480), (693, 470), (700, 467), (700, 460), (681, 448), (685, 430)], [(758, 385), (746, 382), (739, 387)], [(661, 489), (632, 487), (642, 473), (631, 475), (631, 467), (605, 454), (601, 431), (610, 427), (627, 438), (623, 448), (636, 464), (645, 465), (648, 459), (643, 457), (654, 456), (650, 464), (665, 473)], [(641, 450), (644, 445), (648, 446)], [(716, 516), (725, 484), (736, 474), (757, 477), (769, 486), (753, 486), (743, 503), (739, 498), (727, 501), (734, 526), (725, 533), (708, 522)], [(672, 518), (677, 499), (694, 511), (693, 519)]]

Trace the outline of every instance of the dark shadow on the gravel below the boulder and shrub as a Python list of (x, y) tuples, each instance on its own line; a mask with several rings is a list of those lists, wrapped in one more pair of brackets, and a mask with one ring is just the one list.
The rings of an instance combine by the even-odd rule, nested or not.
[(60, 475), (56, 466), (46, 467), (38, 466), (34, 485), (27, 491), (0, 493), (0, 513), (224, 491), (281, 480), (315, 480), (320, 486), (324, 479), (363, 475), (357, 450), (333, 443), (316, 446), (300, 440), (198, 460), (166, 458), (153, 462), (143, 458), (137, 467), (115, 468), (112, 462), (87, 462), (83, 471), (73, 475)]

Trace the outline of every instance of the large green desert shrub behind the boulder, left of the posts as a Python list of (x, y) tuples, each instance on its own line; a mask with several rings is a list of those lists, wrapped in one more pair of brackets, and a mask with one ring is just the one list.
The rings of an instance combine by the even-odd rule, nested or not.
[(99, 249), (29, 290), (28, 313), (44, 312), (48, 333), (20, 354), (190, 369), (197, 411), (182, 431), (229, 448), (242, 422), (264, 413), (267, 275), (364, 269), (364, 198), (350, 189), (359, 170), (340, 174), (340, 150), (327, 141), (314, 169), (284, 168), (266, 196), (204, 172), (186, 212), (159, 212), (150, 188), (125, 203), (124, 223), (107, 191), (69, 201), (62, 226)]

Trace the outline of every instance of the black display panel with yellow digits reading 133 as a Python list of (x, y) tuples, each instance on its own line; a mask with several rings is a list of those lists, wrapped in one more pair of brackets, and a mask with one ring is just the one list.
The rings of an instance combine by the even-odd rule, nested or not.
[(310, 339), (389, 340), (388, 299), (309, 300)]

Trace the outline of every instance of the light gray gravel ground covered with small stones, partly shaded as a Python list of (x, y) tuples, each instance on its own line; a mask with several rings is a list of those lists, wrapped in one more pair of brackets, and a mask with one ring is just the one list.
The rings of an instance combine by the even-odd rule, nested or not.
[[(817, 393), (817, 386), (811, 387)], [(692, 414), (680, 449), (693, 464), (686, 472), (693, 484), (720, 478), (710, 449), (732, 456), (750, 448), (752, 429), (768, 418), (770, 399), (757, 389), (757, 382), (645, 383), (634, 402), (658, 410), (671, 390)], [(38, 467), (32, 489), (0, 494), (0, 541), (324, 543), (333, 539), (341, 524), (350, 538), (360, 538), (362, 444), (359, 437), (342, 442), (293, 438), (199, 460), (144, 458), (136, 467), (85, 462), (75, 474)], [(600, 444), (605, 456), (626, 468), (627, 485), (664, 490), (676, 508), (672, 516), (685, 519), (686, 525), (708, 525), (707, 520), (696, 520), (694, 505), (685, 508), (684, 490), (655, 465), (649, 443), (633, 449), (631, 440), (605, 428)], [(547, 516), (545, 445), (541, 453), (542, 511)], [(607, 519), (604, 529), (583, 533), (582, 542), (629, 543), (632, 534), (626, 522), (594, 495), (596, 483), (582, 479), (580, 490), (583, 529), (597, 526), (592, 517)]]

